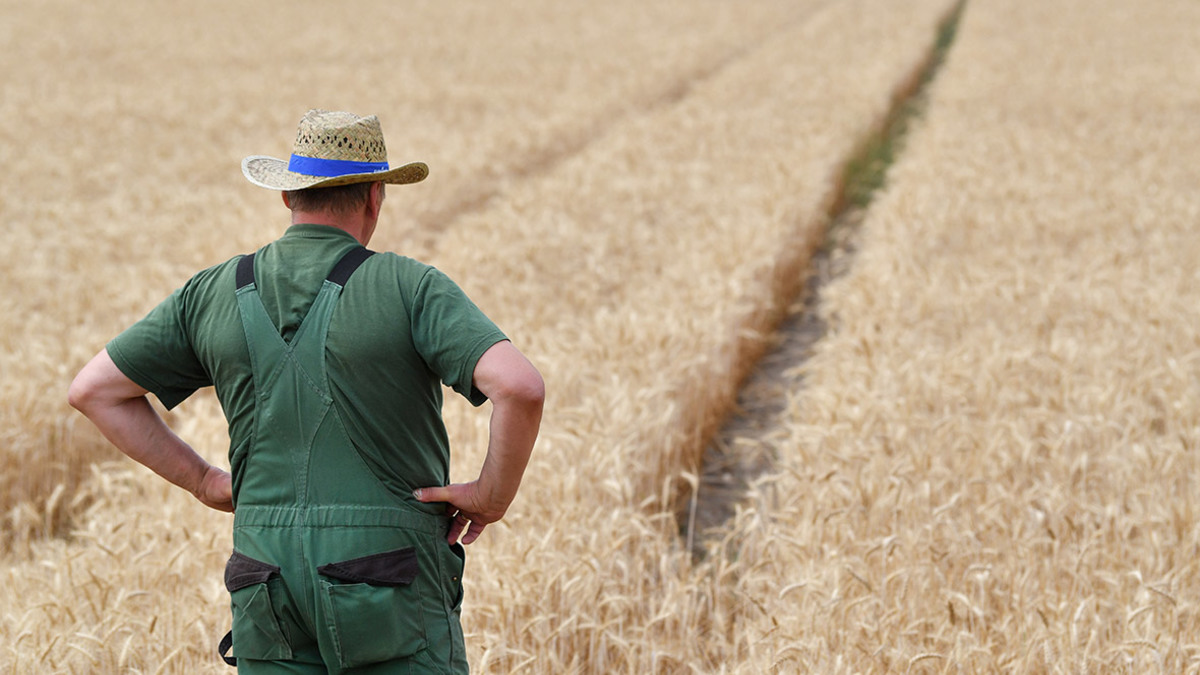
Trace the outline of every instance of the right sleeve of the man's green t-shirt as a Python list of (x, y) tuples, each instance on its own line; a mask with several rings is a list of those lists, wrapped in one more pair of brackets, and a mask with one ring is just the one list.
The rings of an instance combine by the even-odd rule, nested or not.
[(413, 342), (442, 382), (479, 406), (487, 396), (473, 384), (475, 364), (508, 338), (449, 276), (430, 268), (413, 299)]

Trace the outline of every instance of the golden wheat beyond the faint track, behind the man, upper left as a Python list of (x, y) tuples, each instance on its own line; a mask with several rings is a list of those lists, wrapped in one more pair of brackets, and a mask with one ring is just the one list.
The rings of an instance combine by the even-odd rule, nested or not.
[[(380, 233), (382, 246), (425, 257), (456, 214), (661, 104), (803, 7), (2, 12), (0, 112), (12, 124), (0, 130), (11, 169), (0, 189), (0, 465), (20, 471), (0, 474), (0, 510), (17, 509), (7, 530), (20, 539), (44, 530), (58, 485), (73, 491), (95, 458), (114, 456), (64, 405), (73, 371), (188, 274), (281, 231), (277, 199), (238, 162), (286, 154), (304, 110), (378, 112), (392, 157), (433, 167), (420, 192), (392, 195)], [(58, 514), (50, 531), (68, 515)]]

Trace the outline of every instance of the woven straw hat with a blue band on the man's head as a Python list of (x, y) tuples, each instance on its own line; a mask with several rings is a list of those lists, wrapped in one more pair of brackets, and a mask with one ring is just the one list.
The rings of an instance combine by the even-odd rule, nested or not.
[(304, 190), (352, 183), (416, 183), (425, 180), (430, 168), (424, 162), (390, 168), (374, 115), (308, 110), (300, 120), (289, 160), (251, 155), (241, 161), (241, 173), (262, 187)]

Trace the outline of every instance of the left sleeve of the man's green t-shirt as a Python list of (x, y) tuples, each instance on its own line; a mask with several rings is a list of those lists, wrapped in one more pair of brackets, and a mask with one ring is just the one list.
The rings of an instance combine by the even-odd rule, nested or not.
[(182, 305), (180, 288), (106, 347), (116, 368), (167, 410), (211, 384), (187, 338)]

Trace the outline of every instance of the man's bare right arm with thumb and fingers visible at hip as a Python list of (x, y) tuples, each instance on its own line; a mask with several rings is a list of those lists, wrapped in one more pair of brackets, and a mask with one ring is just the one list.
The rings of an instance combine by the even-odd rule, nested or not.
[(541, 375), (508, 340), (492, 345), (479, 358), (473, 384), (492, 401), (487, 456), (479, 478), (414, 491), (421, 502), (450, 504), (455, 515), (450, 543), (460, 534), (463, 544), (474, 542), (484, 527), (508, 512), (538, 438), (546, 398)]

